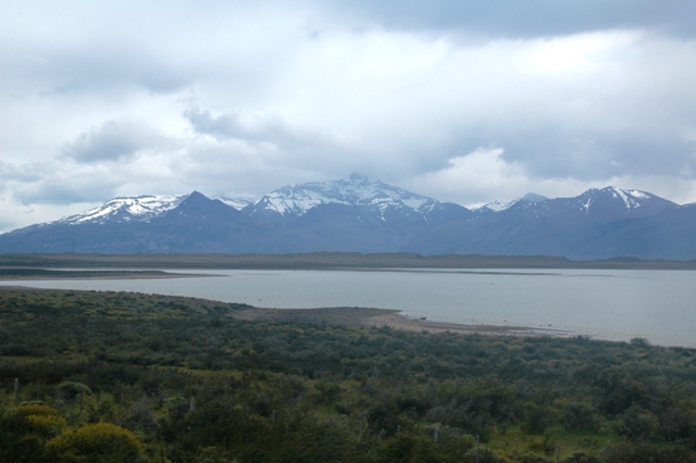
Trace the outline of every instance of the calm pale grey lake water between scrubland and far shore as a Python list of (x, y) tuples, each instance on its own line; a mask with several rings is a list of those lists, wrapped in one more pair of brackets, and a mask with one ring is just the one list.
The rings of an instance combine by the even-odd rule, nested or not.
[[(186, 273), (194, 273), (186, 271)], [(208, 278), (3, 281), (191, 296), (263, 308), (368, 306), (465, 324), (696, 347), (696, 272), (209, 271)]]

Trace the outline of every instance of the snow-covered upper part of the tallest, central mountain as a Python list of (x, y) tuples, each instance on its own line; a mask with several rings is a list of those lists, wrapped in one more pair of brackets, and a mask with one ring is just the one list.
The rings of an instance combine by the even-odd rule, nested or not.
[(245, 212), (266, 218), (297, 218), (322, 204), (373, 208), (384, 217), (388, 209), (426, 215), (442, 205), (439, 201), (397, 188), (360, 174), (348, 179), (290, 185), (256, 201)]

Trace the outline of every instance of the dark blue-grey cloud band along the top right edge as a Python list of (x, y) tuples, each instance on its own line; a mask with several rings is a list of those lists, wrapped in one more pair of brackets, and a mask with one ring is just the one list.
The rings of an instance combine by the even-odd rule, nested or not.
[(696, 2), (691, 0), (327, 0), (324, 3), (361, 12), (386, 27), (409, 29), (462, 29), (519, 38), (650, 28), (696, 36)]

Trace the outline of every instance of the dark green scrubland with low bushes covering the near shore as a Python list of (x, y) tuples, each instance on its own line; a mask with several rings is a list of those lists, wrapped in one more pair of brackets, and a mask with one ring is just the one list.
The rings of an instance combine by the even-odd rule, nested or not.
[(0, 290), (0, 461), (696, 462), (696, 351)]

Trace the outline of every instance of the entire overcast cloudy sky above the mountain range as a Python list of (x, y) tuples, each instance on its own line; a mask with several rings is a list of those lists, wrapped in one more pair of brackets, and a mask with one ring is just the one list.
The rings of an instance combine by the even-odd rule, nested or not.
[(0, 0), (0, 233), (371, 179), (696, 201), (691, 0)]

